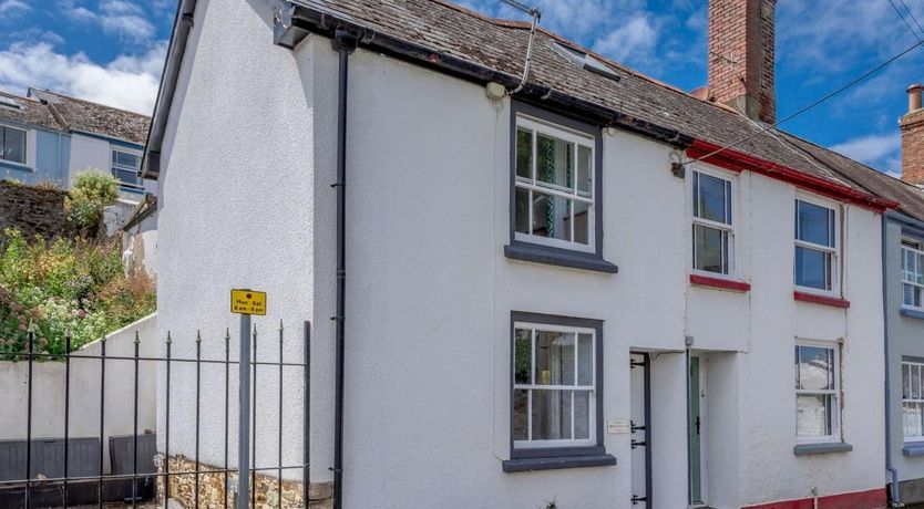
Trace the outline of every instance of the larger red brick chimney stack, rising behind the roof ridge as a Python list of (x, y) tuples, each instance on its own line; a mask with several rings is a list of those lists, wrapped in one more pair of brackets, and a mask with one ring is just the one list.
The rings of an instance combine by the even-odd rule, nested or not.
[(709, 0), (709, 98), (777, 121), (777, 0)]

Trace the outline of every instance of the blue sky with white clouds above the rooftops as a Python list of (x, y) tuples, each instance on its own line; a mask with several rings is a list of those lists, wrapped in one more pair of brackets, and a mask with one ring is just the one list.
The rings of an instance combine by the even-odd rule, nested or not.
[[(523, 18), (499, 0), (458, 1), (490, 15)], [(546, 29), (680, 89), (706, 84), (708, 0), (533, 1)], [(924, 24), (924, 1), (893, 2), (910, 7)], [(175, 3), (0, 0), (0, 90), (47, 87), (150, 113)], [(779, 116), (915, 41), (889, 0), (778, 0)], [(783, 128), (895, 173), (897, 118), (906, 108), (905, 89), (915, 82), (924, 82), (924, 48)]]

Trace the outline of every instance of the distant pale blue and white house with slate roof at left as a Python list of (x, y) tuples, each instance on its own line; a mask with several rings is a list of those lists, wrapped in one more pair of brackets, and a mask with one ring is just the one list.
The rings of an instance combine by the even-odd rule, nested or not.
[(69, 187), (86, 168), (111, 172), (123, 201), (137, 204), (154, 186), (138, 176), (150, 118), (54, 92), (0, 92), (0, 178)]

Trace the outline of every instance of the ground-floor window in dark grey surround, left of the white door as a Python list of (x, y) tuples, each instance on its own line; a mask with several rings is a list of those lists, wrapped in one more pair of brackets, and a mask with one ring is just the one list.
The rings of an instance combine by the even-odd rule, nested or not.
[(514, 451), (602, 442), (600, 323), (514, 313)]

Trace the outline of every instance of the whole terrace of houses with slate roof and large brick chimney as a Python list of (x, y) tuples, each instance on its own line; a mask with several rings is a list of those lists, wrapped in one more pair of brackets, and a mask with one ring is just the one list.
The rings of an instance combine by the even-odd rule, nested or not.
[[(924, 198), (764, 132), (774, 6), (709, 0), (736, 69), (710, 58), (688, 94), (442, 0), (184, 0), (142, 168), (160, 333), (193, 355), (230, 288), (269, 291), (258, 328), (310, 321), (335, 507), (885, 506), (922, 434), (920, 330), (895, 323), (920, 314)], [(223, 429), (226, 403), (199, 414), (173, 375), (158, 447), (188, 458), (189, 416)], [(279, 402), (256, 404), (273, 465)]]

